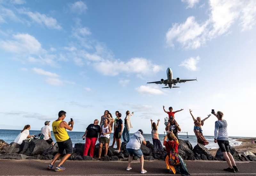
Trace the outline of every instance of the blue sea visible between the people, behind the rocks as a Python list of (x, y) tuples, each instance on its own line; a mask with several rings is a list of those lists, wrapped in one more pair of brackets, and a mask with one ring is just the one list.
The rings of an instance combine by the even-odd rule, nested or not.
[[(4, 140), (7, 143), (12, 143), (14, 141), (14, 139), (18, 136), (18, 134), (20, 133), (21, 130), (9, 130), (9, 129), (0, 129), (0, 139)], [(37, 130), (29, 130), (30, 135), (38, 135), (39, 133), (41, 133), (41, 131), (37, 131)], [(82, 136), (84, 135), (84, 132), (68, 132), (69, 137), (71, 138), (71, 141), (73, 143), (73, 146), (75, 145), (75, 143), (84, 143), (84, 140), (82, 139)], [(132, 134), (130, 134), (131, 136)], [(152, 137), (151, 134), (143, 134), (144, 138), (146, 141), (150, 141), (152, 142)], [(53, 137), (53, 133), (52, 133), (52, 137)], [(206, 145), (205, 147), (208, 149), (215, 149), (215, 148), (219, 148), (217, 143), (214, 143), (214, 136), (204, 136), (209, 144)], [(180, 139), (183, 140), (188, 140), (192, 146), (194, 147), (197, 144), (197, 138), (195, 135), (179, 135)], [(247, 138), (247, 137), (229, 137), (229, 143), (231, 146), (236, 146), (236, 145), (241, 145), (241, 142), (236, 141), (235, 138)], [(123, 140), (123, 139), (122, 139)], [(160, 141), (164, 141), (164, 135), (159, 135), (159, 140)], [(54, 137), (53, 137), (53, 141), (55, 141)], [(110, 135), (110, 145), (112, 145), (113, 142), (113, 133)], [(116, 144), (115, 144), (116, 146)]]

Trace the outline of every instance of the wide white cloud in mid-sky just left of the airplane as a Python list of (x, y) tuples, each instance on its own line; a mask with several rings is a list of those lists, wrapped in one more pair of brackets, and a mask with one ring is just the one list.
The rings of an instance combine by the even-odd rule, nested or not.
[(128, 62), (119, 60), (104, 60), (94, 64), (94, 68), (103, 75), (116, 76), (119, 73), (152, 74), (161, 70), (159, 65), (153, 64), (145, 58), (135, 57)]

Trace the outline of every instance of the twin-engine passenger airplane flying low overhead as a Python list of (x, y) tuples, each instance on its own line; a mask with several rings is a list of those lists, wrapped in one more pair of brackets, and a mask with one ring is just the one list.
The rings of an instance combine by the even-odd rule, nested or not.
[(180, 79), (179, 77), (177, 77), (176, 79), (173, 79), (173, 74), (170, 67), (167, 68), (166, 74), (167, 74), (167, 79), (165, 80), (161, 79), (160, 81), (149, 82), (149, 83), (164, 84), (165, 86), (168, 85), (168, 87), (162, 87), (162, 88), (172, 89), (172, 88), (177, 88), (176, 86), (173, 86), (173, 85), (176, 85), (177, 83), (185, 83), (187, 81), (197, 81), (197, 79)]

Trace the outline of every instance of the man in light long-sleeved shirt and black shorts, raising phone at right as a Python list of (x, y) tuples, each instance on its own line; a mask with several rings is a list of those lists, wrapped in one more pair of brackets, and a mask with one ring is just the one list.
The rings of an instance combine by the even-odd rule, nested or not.
[(228, 124), (226, 120), (223, 120), (223, 113), (218, 111), (217, 114), (213, 112), (217, 117), (218, 121), (215, 121), (215, 130), (214, 130), (214, 143), (218, 143), (220, 150), (228, 163), (228, 168), (224, 171), (228, 172), (238, 172), (239, 169), (236, 167), (236, 162), (229, 152), (229, 141), (228, 141)]

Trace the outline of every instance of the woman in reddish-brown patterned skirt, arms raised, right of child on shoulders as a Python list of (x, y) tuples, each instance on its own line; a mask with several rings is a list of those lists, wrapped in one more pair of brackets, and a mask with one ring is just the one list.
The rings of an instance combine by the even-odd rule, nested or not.
[(208, 119), (211, 114), (209, 114), (206, 118), (204, 118), (203, 120), (201, 120), (200, 117), (197, 117), (196, 119), (194, 118), (193, 114), (192, 114), (192, 110), (189, 109), (189, 112), (193, 118), (193, 121), (194, 121), (194, 133), (196, 135), (196, 138), (197, 138), (197, 143), (201, 143), (203, 145), (208, 145), (209, 142), (204, 138), (204, 135), (203, 135), (203, 130), (202, 130), (202, 126), (204, 125), (204, 121), (206, 119)]

